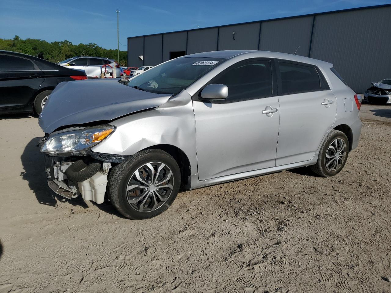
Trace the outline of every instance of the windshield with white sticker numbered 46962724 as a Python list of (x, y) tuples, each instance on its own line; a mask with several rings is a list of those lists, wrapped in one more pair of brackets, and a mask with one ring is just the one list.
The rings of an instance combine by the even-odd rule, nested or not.
[(144, 71), (125, 84), (151, 93), (177, 94), (225, 60), (208, 57), (172, 59)]

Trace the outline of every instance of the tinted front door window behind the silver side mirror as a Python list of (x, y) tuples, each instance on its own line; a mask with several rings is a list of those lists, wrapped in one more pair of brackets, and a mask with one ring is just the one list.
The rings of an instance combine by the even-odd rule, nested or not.
[(228, 86), (228, 98), (221, 102), (236, 102), (272, 95), (270, 61), (253, 61), (236, 65), (212, 80)]

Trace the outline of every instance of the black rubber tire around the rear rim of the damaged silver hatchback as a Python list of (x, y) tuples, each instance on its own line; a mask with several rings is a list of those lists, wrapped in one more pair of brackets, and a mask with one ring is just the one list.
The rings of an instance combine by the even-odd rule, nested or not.
[[(330, 171), (326, 167), (326, 154), (327, 154), (328, 148), (330, 147), (331, 143), (334, 142), (335, 139), (337, 139), (337, 138), (343, 139), (343, 141), (346, 145), (346, 155), (343, 159), (341, 166), (339, 166), (339, 168), (337, 168), (337, 170), (335, 170), (335, 171)], [(323, 144), (320, 148), (317, 163), (315, 165), (310, 166), (310, 168), (311, 168), (312, 172), (314, 172), (317, 175), (322, 176), (322, 177), (331, 177), (331, 176), (337, 175), (339, 172), (341, 172), (341, 170), (345, 166), (345, 163), (348, 159), (348, 155), (349, 155), (349, 140), (346, 137), (346, 135), (342, 131), (331, 130), (330, 133), (326, 136), (325, 141), (323, 141)]]

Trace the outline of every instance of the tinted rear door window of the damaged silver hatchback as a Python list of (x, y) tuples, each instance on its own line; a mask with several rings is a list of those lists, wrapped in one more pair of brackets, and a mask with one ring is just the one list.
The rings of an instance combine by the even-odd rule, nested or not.
[(321, 81), (315, 67), (286, 62), (278, 62), (278, 64), (283, 95), (321, 89)]

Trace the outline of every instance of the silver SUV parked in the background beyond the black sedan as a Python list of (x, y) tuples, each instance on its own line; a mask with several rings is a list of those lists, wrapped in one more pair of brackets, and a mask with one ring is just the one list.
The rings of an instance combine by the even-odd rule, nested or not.
[[(115, 68), (116, 77), (120, 78), (120, 66), (118, 63), (113, 59), (108, 58), (101, 58), (101, 57), (90, 57), (90, 56), (76, 56), (69, 59), (66, 59), (64, 61), (61, 61), (60, 63), (57, 63), (61, 66), (72, 66), (72, 68), (75, 69), (82, 69), (86, 71), (86, 75), (88, 78), (96, 78), (100, 77), (101, 68), (104, 65), (110, 65), (111, 68)], [(113, 70), (106, 66), (107, 71), (110, 73), (110, 75), (113, 75)], [(103, 68), (104, 71), (104, 68)]]

